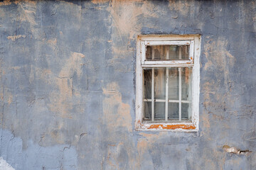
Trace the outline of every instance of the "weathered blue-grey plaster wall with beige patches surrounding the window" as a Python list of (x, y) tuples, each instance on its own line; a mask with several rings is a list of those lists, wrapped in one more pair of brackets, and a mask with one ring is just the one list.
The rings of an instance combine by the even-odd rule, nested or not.
[[(256, 169), (255, 1), (0, 5), (0, 156), (14, 169)], [(137, 35), (193, 33), (199, 132), (134, 131)]]

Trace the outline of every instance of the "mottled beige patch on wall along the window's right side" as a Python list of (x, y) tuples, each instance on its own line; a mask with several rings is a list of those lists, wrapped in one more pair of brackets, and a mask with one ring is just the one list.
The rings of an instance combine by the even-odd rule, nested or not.
[[(214, 119), (223, 119), (223, 113), (218, 113), (213, 115), (213, 120), (209, 121), (209, 111), (208, 108), (222, 108), (223, 102), (228, 101), (229, 105), (235, 103), (234, 98), (231, 95), (231, 90), (229, 84), (232, 83), (230, 79), (230, 69), (235, 66), (235, 57), (230, 54), (228, 49), (228, 40), (225, 38), (212, 39), (209, 36), (206, 36), (206, 43), (204, 45), (207, 62), (203, 67), (204, 72), (212, 73), (216, 76), (216, 79), (210, 79), (203, 84), (203, 106), (206, 108), (206, 111), (203, 111), (201, 114), (201, 119), (203, 123), (203, 128), (210, 130), (210, 127), (213, 128), (216, 124)], [(224, 79), (224, 82), (223, 82)], [(223, 86), (224, 84), (224, 86)], [(219, 93), (218, 89), (223, 89), (225, 91), (225, 96)], [(214, 96), (214, 102), (213, 102)], [(210, 138), (210, 137), (209, 137)]]

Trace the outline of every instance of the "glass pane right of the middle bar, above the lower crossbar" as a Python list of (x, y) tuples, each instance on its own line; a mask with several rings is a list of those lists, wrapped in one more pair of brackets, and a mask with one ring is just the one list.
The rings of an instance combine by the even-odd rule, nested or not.
[(168, 86), (169, 100), (178, 100), (178, 67), (169, 68)]

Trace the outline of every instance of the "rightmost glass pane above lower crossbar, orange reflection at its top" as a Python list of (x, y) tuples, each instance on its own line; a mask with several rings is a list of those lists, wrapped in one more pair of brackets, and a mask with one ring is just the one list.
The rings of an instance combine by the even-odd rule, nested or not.
[(181, 100), (191, 101), (192, 99), (192, 67), (181, 68)]

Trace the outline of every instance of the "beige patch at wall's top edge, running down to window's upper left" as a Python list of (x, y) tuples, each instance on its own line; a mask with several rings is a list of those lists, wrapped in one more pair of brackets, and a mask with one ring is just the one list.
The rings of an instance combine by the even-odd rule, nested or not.
[[(100, 2), (93, 1), (95, 4)], [(136, 2), (142, 5), (137, 5)], [(130, 41), (137, 38), (142, 27), (145, 26), (139, 22), (139, 16), (157, 18), (153, 8), (154, 6), (147, 1), (110, 1), (107, 11), (110, 11), (110, 21), (114, 29), (112, 38), (108, 42), (112, 44), (113, 58), (108, 60), (107, 64), (114, 67), (116, 72), (132, 72), (132, 68), (124, 64), (122, 59), (134, 54), (135, 49), (131, 47)]]

